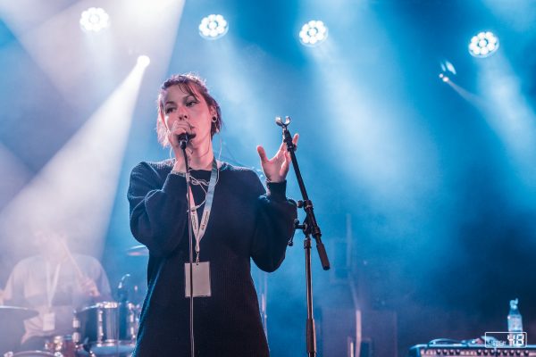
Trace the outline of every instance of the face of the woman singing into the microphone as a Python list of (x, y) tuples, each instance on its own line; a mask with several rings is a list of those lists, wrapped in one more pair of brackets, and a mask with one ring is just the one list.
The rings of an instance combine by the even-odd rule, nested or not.
[(212, 118), (216, 111), (206, 104), (197, 88), (189, 94), (179, 86), (169, 87), (165, 90), (162, 104), (161, 120), (168, 130), (187, 124), (187, 132), (191, 134), (189, 145), (196, 148), (211, 142)]

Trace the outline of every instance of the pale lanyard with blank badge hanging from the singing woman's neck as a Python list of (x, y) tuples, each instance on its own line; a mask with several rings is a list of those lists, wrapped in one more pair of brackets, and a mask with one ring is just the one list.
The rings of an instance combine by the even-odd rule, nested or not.
[(185, 279), (185, 296), (190, 296), (190, 283), (193, 285), (194, 297), (196, 296), (210, 296), (210, 262), (199, 262), (200, 242), (205, 236), (206, 226), (208, 225), (208, 219), (210, 218), (210, 211), (212, 209), (212, 203), (214, 200), (214, 188), (216, 187), (216, 179), (218, 176), (218, 163), (214, 159), (212, 172), (210, 175), (210, 182), (208, 184), (208, 190), (205, 198), (205, 208), (201, 216), (201, 222), (197, 221), (197, 208), (194, 202), (194, 195), (191, 188), (188, 187), (188, 195), (190, 199), (189, 216), (192, 224), (192, 230), (194, 237), (196, 237), (196, 261), (192, 264), (192, 280), (190, 281), (190, 263), (184, 264), (184, 279)]

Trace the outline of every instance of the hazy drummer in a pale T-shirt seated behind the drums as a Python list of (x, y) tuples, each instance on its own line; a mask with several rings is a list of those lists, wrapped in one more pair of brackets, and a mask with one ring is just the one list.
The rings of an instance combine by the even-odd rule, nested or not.
[(111, 298), (105, 270), (95, 258), (71, 253), (64, 234), (35, 235), (39, 254), (18, 262), (4, 288), (4, 303), (38, 311), (24, 320), (21, 351), (42, 350), (52, 336), (71, 335), (73, 311)]

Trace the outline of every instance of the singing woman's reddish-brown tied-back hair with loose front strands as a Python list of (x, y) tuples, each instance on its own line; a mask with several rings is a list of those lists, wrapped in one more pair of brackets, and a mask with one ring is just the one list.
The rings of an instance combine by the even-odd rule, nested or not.
[(166, 79), (162, 87), (160, 87), (160, 91), (158, 93), (158, 99), (157, 99), (157, 105), (158, 105), (158, 117), (156, 118), (156, 133), (158, 135), (158, 142), (162, 144), (164, 147), (169, 146), (170, 142), (167, 137), (168, 129), (165, 127), (164, 123), (160, 119), (161, 116), (163, 117), (163, 95), (165, 95), (165, 92), (167, 88), (172, 86), (179, 86), (184, 93), (188, 93), (188, 95), (196, 95), (196, 89), (197, 92), (203, 95), (203, 98), (205, 98), (206, 104), (208, 104), (209, 107), (214, 107), (216, 110), (216, 121), (212, 123), (212, 128), (210, 130), (211, 137), (214, 137), (214, 134), (219, 132), (220, 129), (222, 129), (222, 110), (220, 109), (220, 104), (216, 102), (214, 97), (208, 93), (208, 89), (205, 85), (205, 80), (201, 79), (199, 76), (193, 73), (186, 73), (186, 74), (174, 74), (169, 79)]

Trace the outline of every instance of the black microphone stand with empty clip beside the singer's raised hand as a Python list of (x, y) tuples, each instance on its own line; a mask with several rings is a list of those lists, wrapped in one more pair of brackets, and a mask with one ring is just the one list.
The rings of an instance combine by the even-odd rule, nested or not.
[[(322, 243), (322, 233), (320, 227), (316, 223), (316, 218), (313, 212), (313, 202), (309, 199), (304, 180), (301, 177), (299, 167), (297, 166), (296, 159), (296, 145), (292, 142), (292, 136), (290, 135), (288, 126), (290, 124), (290, 118), (285, 117), (285, 121), (281, 120), (281, 117), (275, 118), (275, 122), (283, 129), (283, 141), (287, 144), (287, 151), (289, 151), (290, 159), (292, 160), (292, 167), (296, 173), (297, 184), (301, 191), (303, 200), (297, 202), (297, 207), (303, 208), (306, 212), (306, 218), (302, 224), (299, 220), (294, 221), (295, 229), (301, 229), (305, 234), (304, 249), (306, 253), (306, 294), (307, 294), (307, 321), (306, 321), (306, 343), (307, 343), (307, 356), (316, 356), (316, 331), (314, 328), (314, 314), (313, 314), (313, 282), (311, 275), (311, 235), (316, 241), (316, 250), (320, 257), (323, 270), (330, 270), (330, 261), (328, 255)], [(293, 238), (290, 238), (289, 245), (293, 245)]]

